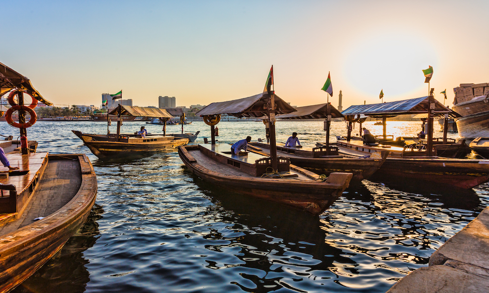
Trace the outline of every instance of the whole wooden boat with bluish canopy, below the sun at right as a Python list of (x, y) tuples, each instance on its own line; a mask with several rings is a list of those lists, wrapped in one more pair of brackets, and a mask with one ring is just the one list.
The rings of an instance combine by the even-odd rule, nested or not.
[(336, 142), (340, 153), (347, 156), (359, 157), (388, 149), (389, 156), (375, 174), (375, 177), (378, 178), (390, 177), (396, 180), (419, 179), (459, 188), (473, 188), (479, 184), (488, 182), (488, 160), (449, 159), (434, 155), (432, 137), (433, 117), (436, 114), (448, 114), (450, 110), (436, 101), (432, 92), (433, 89), (431, 89), (431, 95), (429, 97), (373, 105), (353, 105), (342, 112), (347, 116), (350, 125), (355, 121), (355, 115), (382, 118), (382, 124), (384, 126), (383, 140), (386, 140), (387, 137), (385, 128), (387, 117), (394, 117), (400, 114), (428, 113), (427, 145), (412, 144), (402, 147), (384, 145), (383, 143), (366, 145), (361, 140), (350, 139), (351, 133), (349, 131), (346, 141), (338, 140)]

